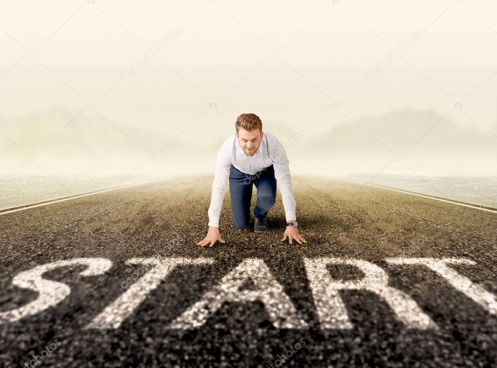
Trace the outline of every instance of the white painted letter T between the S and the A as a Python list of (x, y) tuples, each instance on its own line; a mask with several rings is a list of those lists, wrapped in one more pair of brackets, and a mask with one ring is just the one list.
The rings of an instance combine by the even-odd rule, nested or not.
[[(143, 272), (144, 276), (133, 283), (126, 293), (122, 294), (113, 303), (107, 306), (100, 314), (85, 327), (110, 329), (118, 328), (136, 307), (143, 302), (147, 295), (157, 288), (174, 267), (181, 264), (213, 263), (213, 258), (133, 258), (128, 264), (141, 264), (150, 271)], [(141, 272), (140, 272), (141, 273)]]

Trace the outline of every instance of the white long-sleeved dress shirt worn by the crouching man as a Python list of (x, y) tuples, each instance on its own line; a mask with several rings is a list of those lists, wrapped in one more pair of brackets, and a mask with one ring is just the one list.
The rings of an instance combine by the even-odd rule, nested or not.
[[(286, 151), (278, 138), (264, 132), (259, 148), (250, 156), (247, 155), (235, 134), (224, 141), (216, 159), (216, 172), (212, 183), (211, 205), (209, 206), (209, 226), (219, 226), (219, 215), (226, 193), (226, 184), (230, 176), (230, 167), (249, 175), (262, 175), (264, 169), (274, 165), (274, 177), (280, 188), (286, 220), (295, 220), (295, 199), (293, 197), (292, 180), (288, 167)], [(248, 182), (248, 181), (247, 181)]]

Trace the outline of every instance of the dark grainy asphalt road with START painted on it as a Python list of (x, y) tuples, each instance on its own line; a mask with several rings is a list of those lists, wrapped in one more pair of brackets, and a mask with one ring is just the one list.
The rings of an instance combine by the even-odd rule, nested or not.
[(307, 244), (278, 189), (201, 247), (212, 177), (180, 180), (0, 213), (0, 365), (497, 367), (496, 213), (292, 176)]

